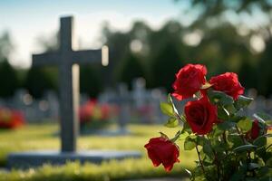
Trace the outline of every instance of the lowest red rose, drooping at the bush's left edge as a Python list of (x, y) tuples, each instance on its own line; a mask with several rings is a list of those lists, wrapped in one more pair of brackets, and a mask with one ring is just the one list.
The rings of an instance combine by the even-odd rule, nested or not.
[(150, 142), (144, 146), (155, 167), (162, 163), (166, 171), (170, 171), (176, 162), (180, 162), (179, 147), (168, 138), (151, 138)]

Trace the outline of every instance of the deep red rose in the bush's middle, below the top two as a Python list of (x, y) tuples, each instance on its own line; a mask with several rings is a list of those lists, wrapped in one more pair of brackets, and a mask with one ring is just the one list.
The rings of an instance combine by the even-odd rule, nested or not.
[(185, 117), (191, 130), (198, 135), (205, 135), (218, 122), (218, 109), (207, 97), (188, 101), (184, 107)]

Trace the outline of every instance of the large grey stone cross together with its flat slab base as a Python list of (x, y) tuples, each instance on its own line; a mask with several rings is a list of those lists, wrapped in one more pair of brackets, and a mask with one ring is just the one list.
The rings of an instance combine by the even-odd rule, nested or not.
[[(108, 63), (108, 49), (73, 51), (73, 17), (61, 18), (60, 50), (34, 54), (34, 66), (56, 65), (59, 69), (62, 152), (15, 153), (8, 157), (9, 167), (32, 167), (46, 163), (64, 164), (67, 160), (102, 162), (108, 159), (140, 157), (135, 151), (75, 152), (78, 136), (79, 66), (78, 63)], [(102, 56), (104, 55), (104, 56)]]

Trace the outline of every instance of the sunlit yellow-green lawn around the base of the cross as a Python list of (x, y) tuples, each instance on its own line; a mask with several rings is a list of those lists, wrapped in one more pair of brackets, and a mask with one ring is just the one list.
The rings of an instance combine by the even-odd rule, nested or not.
[[(148, 177), (184, 177), (188, 176), (182, 167), (190, 169), (194, 167), (197, 158), (195, 152), (183, 151), (183, 142), (180, 141), (180, 164), (176, 164), (170, 173), (163, 168), (154, 168), (151, 160), (147, 158), (144, 144), (151, 137), (158, 137), (159, 131), (163, 131), (170, 137), (175, 133), (174, 129), (163, 126), (130, 125), (131, 135), (121, 137), (83, 136), (78, 140), (78, 148), (88, 149), (119, 149), (139, 150), (142, 153), (140, 159), (126, 159), (120, 162), (104, 162), (102, 165), (91, 163), (80, 165), (77, 162), (67, 163), (62, 167), (44, 165), (28, 170), (5, 171), (6, 158), (10, 152), (27, 150), (43, 150), (60, 148), (60, 140), (56, 136), (57, 124), (28, 125), (16, 130), (0, 130), (0, 180), (126, 180), (131, 178)], [(177, 130), (177, 129), (176, 129)]]

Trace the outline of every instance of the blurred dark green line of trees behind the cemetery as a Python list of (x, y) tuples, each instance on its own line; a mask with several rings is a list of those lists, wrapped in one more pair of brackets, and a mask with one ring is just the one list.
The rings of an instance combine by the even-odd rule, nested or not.
[[(179, 3), (179, 1), (177, 1)], [(108, 67), (89, 65), (81, 67), (80, 89), (96, 97), (102, 90), (143, 77), (148, 88), (161, 87), (171, 91), (174, 73), (186, 63), (203, 63), (209, 75), (235, 71), (244, 86), (256, 88), (259, 94), (272, 94), (272, 35), (270, 24), (257, 29), (247, 24), (233, 24), (226, 18), (229, 11), (235, 14), (253, 14), (252, 9), (267, 16), (271, 22), (271, 4), (267, 0), (190, 1), (190, 12), (200, 12), (189, 25), (170, 20), (154, 30), (143, 21), (134, 22), (127, 32), (114, 31), (110, 24), (102, 27), (102, 43), (110, 47)], [(200, 10), (199, 10), (199, 7)], [(269, 13), (270, 12), (270, 13)], [(182, 18), (182, 17), (181, 17)], [(245, 27), (244, 31), (241, 28)], [(246, 31), (245, 31), (246, 30)], [(252, 37), (258, 35), (265, 43), (262, 52), (252, 48)], [(46, 51), (57, 49), (58, 35), (52, 41), (39, 42)], [(13, 44), (8, 33), (0, 37), (0, 97), (10, 97), (16, 89), (24, 88), (41, 97), (45, 90), (58, 90), (57, 70), (53, 67), (19, 70), (8, 62)]]

